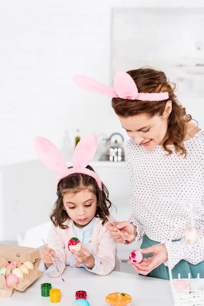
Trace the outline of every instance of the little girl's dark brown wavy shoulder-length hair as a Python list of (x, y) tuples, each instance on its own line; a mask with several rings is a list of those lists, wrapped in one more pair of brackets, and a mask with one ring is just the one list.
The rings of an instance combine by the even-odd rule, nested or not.
[[(89, 165), (86, 168), (94, 171)], [(84, 189), (89, 189), (89, 191), (93, 192), (97, 197), (95, 217), (103, 220), (102, 224), (107, 221), (106, 216), (110, 215), (109, 209), (113, 204), (109, 200), (109, 192), (106, 186), (102, 183), (102, 190), (100, 190), (93, 177), (83, 173), (73, 173), (64, 177), (64, 179), (62, 179), (58, 184), (58, 198), (55, 202), (54, 209), (50, 214), (50, 219), (56, 227), (59, 226), (62, 229), (67, 228), (67, 225), (64, 225), (63, 222), (69, 219), (66, 210), (64, 210), (63, 195), (68, 192), (77, 194)]]

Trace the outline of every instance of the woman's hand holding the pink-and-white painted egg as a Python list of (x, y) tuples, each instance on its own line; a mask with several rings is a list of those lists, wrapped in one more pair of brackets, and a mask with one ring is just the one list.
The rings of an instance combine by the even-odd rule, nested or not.
[[(138, 251), (140, 251), (142, 254), (153, 254), (153, 257), (143, 258), (140, 264), (133, 264), (135, 271), (142, 275), (147, 275), (168, 259), (166, 246), (162, 243), (155, 244), (144, 249), (138, 249)], [(131, 264), (130, 261), (127, 263)]]

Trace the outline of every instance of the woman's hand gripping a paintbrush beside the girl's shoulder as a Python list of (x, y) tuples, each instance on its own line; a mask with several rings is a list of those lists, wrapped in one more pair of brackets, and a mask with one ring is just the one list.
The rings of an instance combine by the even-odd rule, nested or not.
[[(128, 241), (130, 242), (133, 241), (135, 237), (137, 236), (136, 226), (133, 225), (132, 223), (127, 222), (127, 221), (122, 221), (122, 222), (113, 221), (113, 223), (116, 225), (118, 230), (122, 232), (122, 234)], [(124, 239), (117, 232), (116, 227), (113, 226), (111, 223), (106, 225), (106, 229), (110, 231), (115, 241), (117, 241), (118, 243), (124, 243)]]

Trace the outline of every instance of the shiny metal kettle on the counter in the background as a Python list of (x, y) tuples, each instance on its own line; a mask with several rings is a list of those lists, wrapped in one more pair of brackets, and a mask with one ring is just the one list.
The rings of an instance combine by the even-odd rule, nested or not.
[[(115, 135), (119, 135), (121, 142), (113, 140)], [(113, 133), (106, 139), (106, 156), (110, 162), (124, 161), (124, 138), (120, 133)]]

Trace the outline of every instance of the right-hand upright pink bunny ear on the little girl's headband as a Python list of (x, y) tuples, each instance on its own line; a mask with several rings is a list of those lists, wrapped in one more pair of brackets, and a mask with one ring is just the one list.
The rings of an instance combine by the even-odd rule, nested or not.
[(86, 168), (94, 157), (97, 148), (97, 138), (95, 134), (84, 137), (75, 147), (72, 157), (73, 168)]

